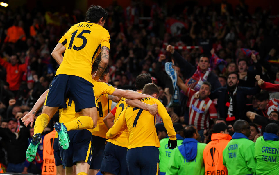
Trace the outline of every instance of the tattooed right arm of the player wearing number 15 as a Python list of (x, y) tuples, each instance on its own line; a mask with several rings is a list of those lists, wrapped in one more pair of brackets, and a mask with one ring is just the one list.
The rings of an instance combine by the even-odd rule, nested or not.
[(98, 70), (97, 70), (97, 72), (95, 74), (95, 77), (94, 77), (95, 80), (99, 80), (102, 73), (105, 71), (105, 68), (108, 65), (109, 54), (110, 54), (110, 49), (109, 48), (107, 48), (105, 46), (101, 47), (101, 61), (99, 63)]

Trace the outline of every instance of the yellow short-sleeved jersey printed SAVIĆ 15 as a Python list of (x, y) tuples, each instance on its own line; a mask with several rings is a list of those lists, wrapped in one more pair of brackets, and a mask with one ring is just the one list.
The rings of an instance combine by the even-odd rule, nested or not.
[(101, 47), (110, 48), (109, 41), (108, 30), (102, 26), (91, 22), (75, 24), (58, 41), (66, 50), (56, 75), (76, 75), (92, 82), (92, 64)]

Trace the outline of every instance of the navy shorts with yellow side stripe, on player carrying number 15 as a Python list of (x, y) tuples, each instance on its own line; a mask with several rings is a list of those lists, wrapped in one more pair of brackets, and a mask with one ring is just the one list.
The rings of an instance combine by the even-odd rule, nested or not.
[[(91, 164), (92, 133), (87, 129), (68, 131), (69, 148), (64, 150), (59, 145), (62, 164), (71, 167), (78, 161)], [(59, 136), (58, 136), (59, 137)]]

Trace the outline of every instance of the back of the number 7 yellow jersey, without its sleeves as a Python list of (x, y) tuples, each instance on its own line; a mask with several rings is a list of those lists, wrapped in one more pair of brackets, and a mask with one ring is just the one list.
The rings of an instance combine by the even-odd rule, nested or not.
[[(161, 103), (155, 98), (143, 98), (141, 101), (151, 105)], [(155, 116), (152, 116), (149, 111), (130, 106), (123, 112), (129, 131), (128, 149), (143, 146), (160, 147)]]

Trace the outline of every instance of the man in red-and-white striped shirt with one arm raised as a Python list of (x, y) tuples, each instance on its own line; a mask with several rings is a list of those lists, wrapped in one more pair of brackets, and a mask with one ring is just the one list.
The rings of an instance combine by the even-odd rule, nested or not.
[[(197, 91), (188, 88), (180, 77), (177, 78), (177, 85), (186, 93), (189, 97), (188, 106), (189, 110), (189, 125), (194, 125), (198, 130), (204, 130), (209, 127), (209, 118), (216, 119), (217, 111), (210, 100), (211, 85), (209, 82), (203, 82), (201, 89), (198, 91), (199, 98), (195, 98), (194, 94)], [(202, 136), (202, 135), (201, 135)]]

